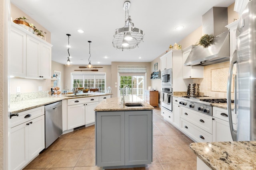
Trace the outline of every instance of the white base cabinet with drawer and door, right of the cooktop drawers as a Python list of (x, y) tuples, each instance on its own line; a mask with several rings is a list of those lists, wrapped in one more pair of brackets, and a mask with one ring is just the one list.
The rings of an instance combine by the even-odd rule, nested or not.
[[(233, 141), (229, 121), (228, 121), (228, 111), (226, 109), (213, 107), (213, 121), (212, 121), (212, 141), (213, 142), (224, 142)], [(232, 121), (233, 127), (236, 129), (236, 114), (232, 111)]]

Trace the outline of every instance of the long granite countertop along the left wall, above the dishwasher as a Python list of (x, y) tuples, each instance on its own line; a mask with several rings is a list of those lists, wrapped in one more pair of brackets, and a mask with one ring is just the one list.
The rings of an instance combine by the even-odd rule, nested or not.
[[(11, 113), (19, 113), (21, 111), (26, 111), (29, 109), (34, 109), (36, 107), (48, 105), (54, 102), (58, 102), (64, 99), (74, 99), (74, 98), (88, 98), (88, 97), (94, 97), (94, 96), (104, 96), (104, 95), (111, 95), (110, 93), (90, 93), (91, 95), (83, 96), (84, 94), (77, 94), (77, 96), (74, 96), (73, 94), (67, 94), (65, 95), (58, 95), (58, 96), (47, 96), (44, 98), (36, 98), (36, 99), (30, 99), (30, 100), (23, 100), (20, 102), (12, 102), (10, 103), (10, 112)], [(71, 97), (68, 97), (71, 96)]]

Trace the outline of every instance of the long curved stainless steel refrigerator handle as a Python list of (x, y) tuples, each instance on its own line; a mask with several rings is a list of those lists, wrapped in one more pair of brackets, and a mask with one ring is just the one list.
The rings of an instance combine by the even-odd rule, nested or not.
[(233, 141), (236, 141), (236, 130), (234, 130), (234, 127), (233, 127), (232, 113), (231, 113), (231, 82), (232, 82), (233, 67), (234, 67), (235, 63), (236, 63), (236, 50), (234, 51), (234, 53), (230, 59), (230, 67), (229, 67), (229, 71), (228, 71), (228, 86), (227, 86), (228, 120), (229, 120), (229, 127), (230, 127), (231, 136), (232, 136)]

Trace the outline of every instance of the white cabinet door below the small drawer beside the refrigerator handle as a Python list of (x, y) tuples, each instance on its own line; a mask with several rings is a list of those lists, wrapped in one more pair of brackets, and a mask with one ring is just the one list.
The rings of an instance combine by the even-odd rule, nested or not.
[[(212, 141), (213, 142), (225, 142), (225, 141), (233, 141), (229, 122), (213, 117), (212, 121)], [(234, 125), (236, 129), (236, 125)]]

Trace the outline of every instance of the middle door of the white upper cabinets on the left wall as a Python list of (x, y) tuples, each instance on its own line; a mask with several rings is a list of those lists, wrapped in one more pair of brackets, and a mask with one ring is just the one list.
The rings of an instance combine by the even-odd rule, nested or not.
[(27, 35), (26, 76), (39, 78), (40, 41)]

